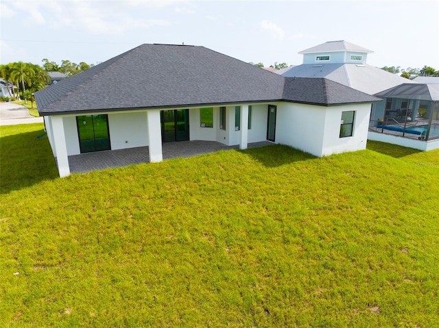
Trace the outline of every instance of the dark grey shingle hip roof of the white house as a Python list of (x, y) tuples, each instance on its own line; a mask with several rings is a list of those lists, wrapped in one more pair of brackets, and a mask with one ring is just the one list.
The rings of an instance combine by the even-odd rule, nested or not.
[[(297, 78), (292, 83), (283, 76), (204, 47), (141, 45), (40, 90), (35, 98), (42, 115), (281, 100), (318, 105), (338, 103), (327, 101), (335, 101), (333, 96), (340, 86), (320, 88), (326, 92), (322, 97), (309, 90), (311, 85), (316, 87), (314, 84)], [(343, 94), (344, 99), (350, 99), (347, 102), (376, 100), (347, 89)]]

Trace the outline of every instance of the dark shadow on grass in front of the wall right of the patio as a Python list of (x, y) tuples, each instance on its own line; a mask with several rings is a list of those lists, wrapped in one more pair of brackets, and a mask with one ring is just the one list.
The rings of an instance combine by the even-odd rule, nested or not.
[(304, 153), (303, 151), (283, 144), (272, 144), (270, 146), (246, 149), (243, 152), (266, 167), (277, 167), (317, 158), (310, 153)]

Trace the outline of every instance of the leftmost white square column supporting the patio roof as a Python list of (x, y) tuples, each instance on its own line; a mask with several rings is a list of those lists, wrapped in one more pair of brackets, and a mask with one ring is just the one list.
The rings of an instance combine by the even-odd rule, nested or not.
[(51, 116), (51, 123), (58, 172), (60, 177), (67, 177), (70, 175), (70, 167), (62, 116)]

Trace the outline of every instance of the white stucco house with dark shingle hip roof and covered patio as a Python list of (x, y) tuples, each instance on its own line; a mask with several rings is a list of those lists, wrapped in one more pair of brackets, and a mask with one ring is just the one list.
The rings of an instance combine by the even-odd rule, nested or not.
[[(115, 92), (115, 86), (118, 86)], [(270, 140), (323, 156), (365, 149), (378, 98), (329, 79), (286, 78), (205, 47), (141, 45), (35, 93), (60, 176), (69, 156), (209, 140)]]

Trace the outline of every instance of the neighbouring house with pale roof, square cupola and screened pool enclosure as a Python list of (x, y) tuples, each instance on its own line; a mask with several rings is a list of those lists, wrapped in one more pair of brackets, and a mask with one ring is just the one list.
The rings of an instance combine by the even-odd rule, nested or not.
[[(337, 81), (356, 90), (374, 94), (382, 101), (372, 103), (368, 139), (400, 144), (420, 150), (439, 148), (435, 131), (435, 110), (416, 94), (418, 82), (431, 84), (436, 80), (432, 77), (416, 77), (413, 81), (399, 75), (383, 71), (381, 68), (367, 64), (368, 54), (373, 53), (366, 48), (353, 45), (344, 40), (325, 42), (299, 53), (303, 54), (303, 64), (282, 71), (285, 77), (327, 78)], [(388, 97), (385, 92), (393, 88), (405, 90), (402, 86), (414, 85), (410, 94), (400, 94), (396, 98)], [(384, 92), (384, 93), (383, 93)], [(403, 99), (405, 97), (405, 99)], [(427, 109), (428, 108), (428, 109)], [(429, 116), (432, 115), (432, 116)], [(433, 121), (429, 121), (429, 118)], [(407, 126), (408, 124), (408, 126)], [(425, 137), (412, 134), (420, 131), (413, 125), (425, 127)], [(431, 125), (432, 124), (432, 125)], [(428, 134), (427, 134), (427, 126)], [(409, 129), (412, 127), (412, 129)], [(420, 138), (419, 138), (420, 137)]]

